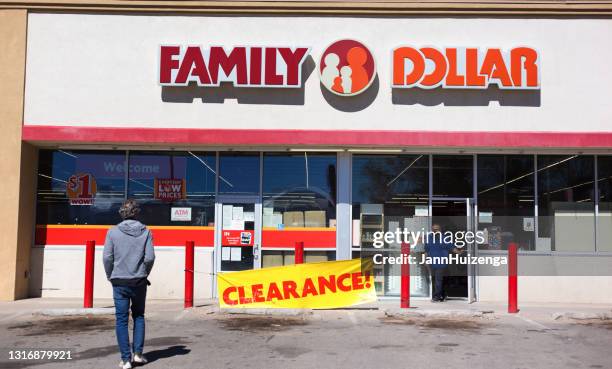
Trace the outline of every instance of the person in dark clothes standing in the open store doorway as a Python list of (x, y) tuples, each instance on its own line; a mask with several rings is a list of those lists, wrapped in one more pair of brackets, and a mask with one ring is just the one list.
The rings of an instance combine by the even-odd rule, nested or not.
[(431, 301), (442, 302), (446, 300), (445, 285), (447, 282), (446, 273), (448, 264), (445, 262), (438, 262), (437, 258), (447, 258), (449, 253), (454, 252), (460, 254), (463, 250), (455, 247), (452, 242), (444, 242), (444, 232), (442, 232), (439, 224), (432, 224), (431, 231), (433, 234), (428, 235), (427, 241), (425, 242), (426, 256), (434, 258), (434, 262), (429, 265), (433, 283)]

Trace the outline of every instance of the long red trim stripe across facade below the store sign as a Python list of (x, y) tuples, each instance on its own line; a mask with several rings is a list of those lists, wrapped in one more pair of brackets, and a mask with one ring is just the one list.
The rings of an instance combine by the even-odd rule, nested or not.
[(612, 147), (612, 132), (453, 132), (102, 128), (25, 125), (29, 142), (433, 147)]

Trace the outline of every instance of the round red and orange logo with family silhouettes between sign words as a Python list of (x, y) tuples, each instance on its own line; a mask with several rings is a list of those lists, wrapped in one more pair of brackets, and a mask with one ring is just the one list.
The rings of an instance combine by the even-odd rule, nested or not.
[(359, 95), (374, 82), (376, 63), (359, 41), (340, 40), (329, 45), (319, 61), (321, 84), (339, 96)]

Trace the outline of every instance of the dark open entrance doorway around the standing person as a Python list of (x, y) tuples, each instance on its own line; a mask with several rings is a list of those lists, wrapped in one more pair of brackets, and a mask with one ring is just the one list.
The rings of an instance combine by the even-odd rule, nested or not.
[[(471, 198), (433, 198), (431, 223), (439, 224), (442, 233), (450, 231), (457, 235), (456, 232), (474, 232), (474, 201)], [(454, 241), (456, 245), (460, 242), (459, 238)], [(474, 255), (476, 252), (475, 242), (466, 242), (463, 248), (466, 252), (462, 256)], [(467, 299), (469, 302), (476, 300), (475, 266), (452, 264), (447, 276), (446, 293), (449, 298)]]

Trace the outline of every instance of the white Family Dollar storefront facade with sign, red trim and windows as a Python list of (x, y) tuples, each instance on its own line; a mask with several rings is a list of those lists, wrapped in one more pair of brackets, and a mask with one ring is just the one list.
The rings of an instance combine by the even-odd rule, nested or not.
[[(101, 246), (135, 198), (158, 256), (153, 298), (182, 297), (186, 241), (203, 298), (216, 272), (293, 263), (296, 241), (307, 262), (341, 260), (373, 232), (459, 219), (489, 235), (474, 252), (518, 244), (524, 301), (612, 301), (612, 8), (200, 6), (4, 11), (18, 126), (2, 164), (7, 299), (80, 296), (85, 241)], [(110, 293), (100, 252), (97, 297)], [(426, 271), (413, 273), (427, 298)], [(455, 295), (501, 301), (503, 273), (466, 270)], [(393, 270), (376, 282), (398, 295)]]

